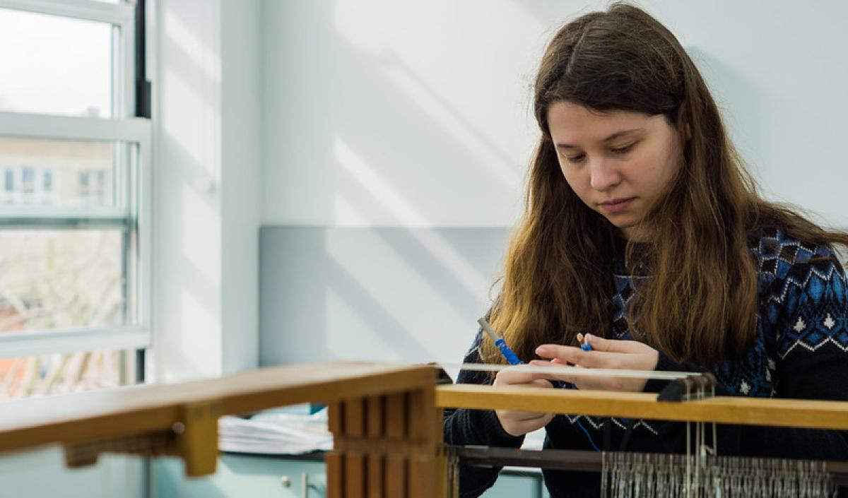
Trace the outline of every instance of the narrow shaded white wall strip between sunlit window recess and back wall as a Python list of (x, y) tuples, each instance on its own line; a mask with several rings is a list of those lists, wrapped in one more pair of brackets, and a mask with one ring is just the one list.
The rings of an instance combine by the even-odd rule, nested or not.
[(221, 4), (221, 306), (224, 373), (259, 355), (261, 33), (258, 0)]

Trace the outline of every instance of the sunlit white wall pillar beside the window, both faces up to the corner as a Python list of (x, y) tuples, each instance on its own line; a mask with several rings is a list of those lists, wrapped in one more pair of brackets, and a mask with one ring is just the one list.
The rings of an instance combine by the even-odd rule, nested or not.
[(153, 378), (258, 362), (259, 1), (159, 0)]

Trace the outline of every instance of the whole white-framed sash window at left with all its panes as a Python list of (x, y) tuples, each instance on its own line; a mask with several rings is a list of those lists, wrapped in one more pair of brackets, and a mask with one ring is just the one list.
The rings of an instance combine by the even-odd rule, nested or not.
[(131, 382), (149, 346), (138, 10), (0, 0), (0, 399)]

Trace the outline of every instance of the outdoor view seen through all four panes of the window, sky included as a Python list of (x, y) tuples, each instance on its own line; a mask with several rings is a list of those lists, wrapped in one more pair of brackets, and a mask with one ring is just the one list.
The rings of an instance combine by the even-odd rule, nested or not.
[[(112, 25), (0, 8), (0, 112), (109, 118)], [(0, 209), (114, 207), (119, 145), (0, 136)], [(126, 229), (0, 226), (0, 334), (126, 320)], [(0, 400), (113, 387), (122, 351), (0, 358)]]

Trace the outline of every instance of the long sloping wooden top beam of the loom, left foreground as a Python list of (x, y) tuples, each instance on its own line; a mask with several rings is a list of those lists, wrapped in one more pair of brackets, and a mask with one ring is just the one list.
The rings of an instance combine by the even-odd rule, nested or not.
[(187, 407), (196, 403), (215, 401), (220, 415), (227, 415), (404, 392), (410, 385), (432, 383), (434, 372), (425, 366), (310, 363), (172, 385), (4, 401), (0, 452), (169, 432), (175, 423), (185, 423)]

